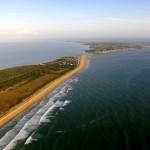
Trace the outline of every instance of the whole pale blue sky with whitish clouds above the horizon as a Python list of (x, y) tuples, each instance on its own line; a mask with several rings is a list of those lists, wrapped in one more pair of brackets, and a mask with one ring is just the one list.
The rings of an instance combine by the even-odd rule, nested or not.
[(0, 0), (0, 41), (150, 38), (150, 0)]

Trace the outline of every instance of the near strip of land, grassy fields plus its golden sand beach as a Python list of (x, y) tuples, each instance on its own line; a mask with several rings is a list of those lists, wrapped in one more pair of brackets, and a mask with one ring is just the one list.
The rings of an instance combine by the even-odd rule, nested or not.
[(0, 126), (82, 69), (87, 54), (0, 70)]

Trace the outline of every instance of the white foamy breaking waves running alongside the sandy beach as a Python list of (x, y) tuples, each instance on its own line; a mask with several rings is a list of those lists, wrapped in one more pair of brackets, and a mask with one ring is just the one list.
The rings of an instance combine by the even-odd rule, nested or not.
[(32, 138), (31, 134), (41, 124), (51, 121), (50, 117), (55, 116), (53, 114), (54, 110), (64, 110), (64, 107), (71, 103), (70, 100), (62, 101), (61, 98), (73, 89), (71, 83), (77, 81), (78, 78), (72, 77), (48, 93), (41, 102), (20, 118), (19, 122), (15, 126), (12, 126), (0, 139), (0, 149), (11, 150), (20, 141), (23, 141), (25, 144), (35, 141), (36, 139)]

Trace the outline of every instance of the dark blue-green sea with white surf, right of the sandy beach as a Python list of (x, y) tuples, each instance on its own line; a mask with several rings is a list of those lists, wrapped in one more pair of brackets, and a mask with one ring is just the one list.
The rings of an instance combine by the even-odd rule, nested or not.
[(4, 150), (149, 150), (150, 49), (90, 55), (0, 129)]

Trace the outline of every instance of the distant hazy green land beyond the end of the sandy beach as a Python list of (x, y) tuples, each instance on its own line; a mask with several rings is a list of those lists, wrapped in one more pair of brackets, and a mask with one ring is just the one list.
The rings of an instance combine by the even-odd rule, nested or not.
[(132, 50), (142, 49), (147, 46), (139, 43), (120, 43), (120, 42), (89, 42), (86, 45), (90, 45), (90, 50), (86, 50), (87, 53), (101, 54), (113, 50)]

